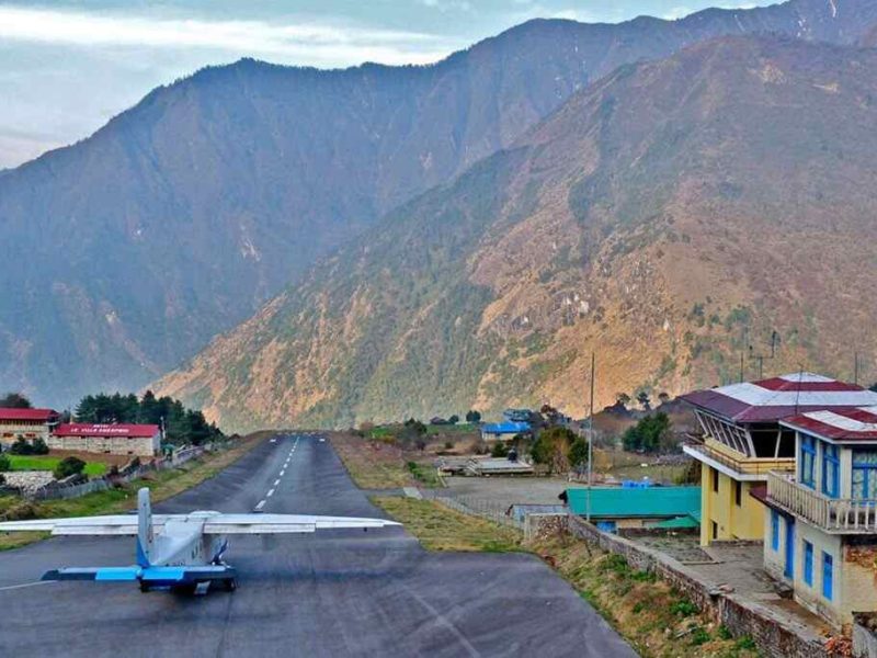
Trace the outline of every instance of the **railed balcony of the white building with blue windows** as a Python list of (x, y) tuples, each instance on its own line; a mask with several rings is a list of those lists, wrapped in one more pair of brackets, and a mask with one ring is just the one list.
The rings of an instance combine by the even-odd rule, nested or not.
[(790, 470), (767, 475), (767, 502), (828, 533), (877, 533), (877, 500), (829, 498), (798, 483)]

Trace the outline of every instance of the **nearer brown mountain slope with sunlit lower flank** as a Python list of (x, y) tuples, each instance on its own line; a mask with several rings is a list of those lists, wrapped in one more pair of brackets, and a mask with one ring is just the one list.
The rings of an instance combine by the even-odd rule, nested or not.
[(622, 66), (159, 388), (248, 428), (581, 415), (592, 351), (601, 405), (852, 378), (877, 353), (875, 127), (875, 49), (734, 36)]

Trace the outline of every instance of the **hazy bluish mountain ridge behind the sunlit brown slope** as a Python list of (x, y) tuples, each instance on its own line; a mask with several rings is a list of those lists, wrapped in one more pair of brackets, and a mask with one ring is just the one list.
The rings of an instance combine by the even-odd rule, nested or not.
[(876, 23), (872, 1), (791, 0), (533, 21), (428, 67), (202, 70), (0, 172), (0, 383), (58, 406), (145, 385), (618, 67), (741, 33), (866, 45)]

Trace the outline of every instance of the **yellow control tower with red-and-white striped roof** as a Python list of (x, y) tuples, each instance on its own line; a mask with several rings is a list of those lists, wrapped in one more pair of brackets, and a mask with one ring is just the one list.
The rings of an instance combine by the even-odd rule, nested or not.
[(702, 441), (683, 446), (703, 465), (701, 544), (762, 540), (768, 473), (795, 465), (795, 431), (779, 420), (801, 411), (877, 405), (877, 394), (812, 373), (743, 382), (682, 396)]

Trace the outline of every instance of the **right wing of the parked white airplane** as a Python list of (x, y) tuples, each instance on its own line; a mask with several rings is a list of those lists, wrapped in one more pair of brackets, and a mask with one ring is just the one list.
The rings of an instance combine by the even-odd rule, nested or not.
[(204, 534), (278, 534), (316, 532), (345, 527), (386, 527), (400, 525), (384, 519), (354, 517), (311, 517), (307, 514), (218, 514), (204, 524)]

